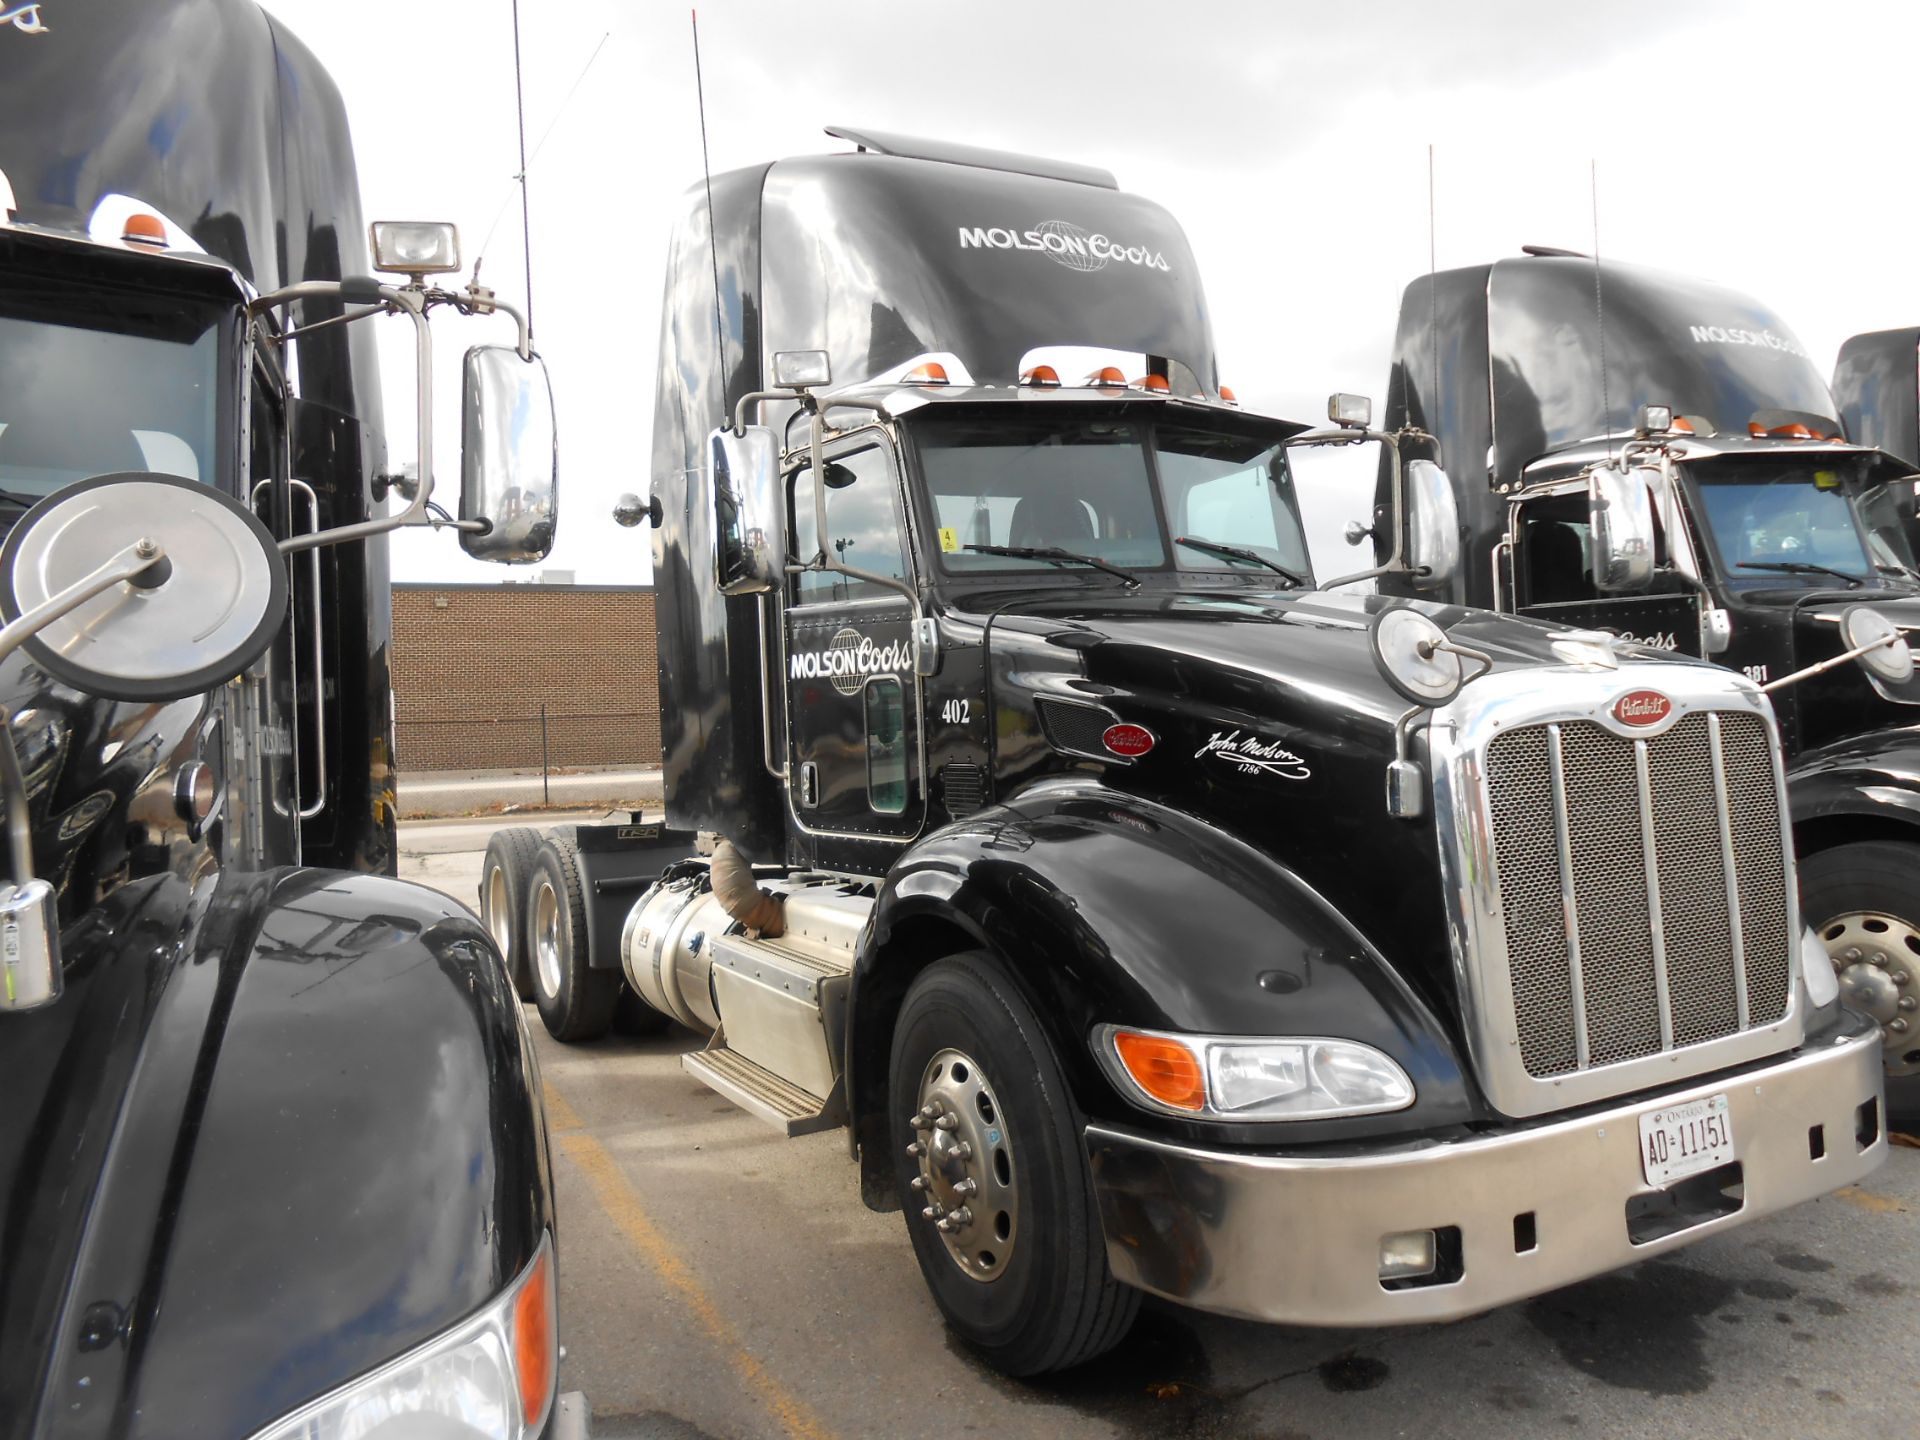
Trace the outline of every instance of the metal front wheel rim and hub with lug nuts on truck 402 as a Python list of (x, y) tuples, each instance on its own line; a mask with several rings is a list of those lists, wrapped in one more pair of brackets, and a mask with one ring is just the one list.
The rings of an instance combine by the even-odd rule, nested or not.
[(993, 1281), (1018, 1240), (1012, 1137), (987, 1075), (972, 1056), (941, 1050), (920, 1079), (906, 1154), (918, 1175), (920, 1217), (939, 1231), (960, 1273)]

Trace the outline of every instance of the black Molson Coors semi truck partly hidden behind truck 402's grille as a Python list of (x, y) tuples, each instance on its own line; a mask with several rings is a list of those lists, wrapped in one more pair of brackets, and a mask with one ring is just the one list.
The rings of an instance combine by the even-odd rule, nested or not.
[[(1463, 563), (1384, 591), (1607, 630), (1766, 689), (1805, 920), (1887, 1073), (1920, 1073), (1920, 680), (1887, 647), (1836, 662), (1920, 626), (1910, 457), (1841, 422), (1759, 301), (1565, 252), (1413, 280), (1386, 411), (1446, 461)], [(1903, 1114), (1916, 1085), (1889, 1096)]]

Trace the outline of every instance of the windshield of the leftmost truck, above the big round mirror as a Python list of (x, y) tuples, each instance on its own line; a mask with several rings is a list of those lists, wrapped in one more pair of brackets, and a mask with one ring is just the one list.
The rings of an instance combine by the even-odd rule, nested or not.
[(211, 484), (221, 311), (148, 296), (0, 296), (0, 492), (117, 470)]

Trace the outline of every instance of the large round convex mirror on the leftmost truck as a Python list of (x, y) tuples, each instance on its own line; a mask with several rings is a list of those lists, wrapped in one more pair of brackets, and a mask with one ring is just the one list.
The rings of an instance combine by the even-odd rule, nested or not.
[(0, 616), (44, 607), (150, 540), (161, 559), (25, 639), (48, 674), (113, 701), (177, 701), (242, 674), (286, 614), (286, 563), (253, 515), (171, 474), (102, 474), (27, 511), (0, 545)]

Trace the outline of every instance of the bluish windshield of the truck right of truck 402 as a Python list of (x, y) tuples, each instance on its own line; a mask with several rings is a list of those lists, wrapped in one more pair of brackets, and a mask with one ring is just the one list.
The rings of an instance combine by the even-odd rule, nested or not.
[(1878, 582), (1912, 564), (1899, 526), (1868, 551), (1859, 461), (1701, 461), (1688, 470), (1730, 586)]

